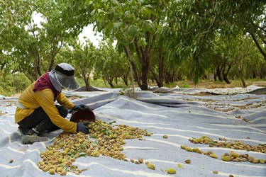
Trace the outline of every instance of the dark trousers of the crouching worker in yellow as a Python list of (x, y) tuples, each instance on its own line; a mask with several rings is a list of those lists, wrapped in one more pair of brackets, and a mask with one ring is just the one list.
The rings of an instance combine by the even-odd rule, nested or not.
[[(55, 106), (63, 118), (67, 117), (67, 108), (62, 107), (61, 105)], [(28, 115), (26, 118), (21, 120), (21, 122), (18, 122), (18, 125), (29, 129), (35, 128), (35, 130), (39, 133), (42, 133), (45, 130), (52, 132), (60, 129), (60, 127), (57, 127), (52, 123), (42, 107), (35, 109), (31, 115)]]

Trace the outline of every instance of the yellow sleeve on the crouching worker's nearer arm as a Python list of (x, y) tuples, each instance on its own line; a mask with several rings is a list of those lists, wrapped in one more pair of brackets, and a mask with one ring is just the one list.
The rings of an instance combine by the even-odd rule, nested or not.
[(51, 89), (35, 91), (34, 96), (45, 113), (49, 116), (50, 120), (52, 120), (53, 124), (57, 125), (57, 127), (60, 127), (65, 132), (76, 132), (77, 124), (62, 118), (55, 107), (54, 94), (52, 93)]

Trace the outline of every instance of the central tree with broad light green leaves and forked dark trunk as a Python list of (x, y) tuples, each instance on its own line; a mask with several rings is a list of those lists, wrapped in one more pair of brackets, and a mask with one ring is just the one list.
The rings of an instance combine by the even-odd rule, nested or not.
[[(166, 18), (165, 8), (168, 1), (86, 1), (90, 11), (91, 23), (95, 30), (102, 32), (105, 38), (117, 40), (118, 51), (125, 52), (133, 74), (140, 89), (148, 89), (150, 55), (153, 52), (157, 29)], [(140, 77), (133, 62), (135, 52), (141, 65)], [(132, 81), (133, 83), (133, 81)]]

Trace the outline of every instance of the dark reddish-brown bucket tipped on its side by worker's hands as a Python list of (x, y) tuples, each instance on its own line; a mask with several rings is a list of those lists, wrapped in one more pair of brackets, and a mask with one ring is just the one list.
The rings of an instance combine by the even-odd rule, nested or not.
[(89, 108), (74, 111), (70, 118), (72, 122), (95, 122), (95, 120), (94, 112)]

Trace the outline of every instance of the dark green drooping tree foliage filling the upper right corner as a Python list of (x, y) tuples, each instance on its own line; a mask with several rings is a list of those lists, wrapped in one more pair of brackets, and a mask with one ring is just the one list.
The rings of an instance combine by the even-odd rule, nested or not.
[(171, 6), (167, 19), (169, 30), (165, 38), (170, 40), (172, 56), (192, 59), (190, 70), (194, 83), (205, 72), (206, 59), (213, 50), (216, 35), (250, 35), (262, 56), (265, 48), (265, 1), (199, 1), (180, 0)]

